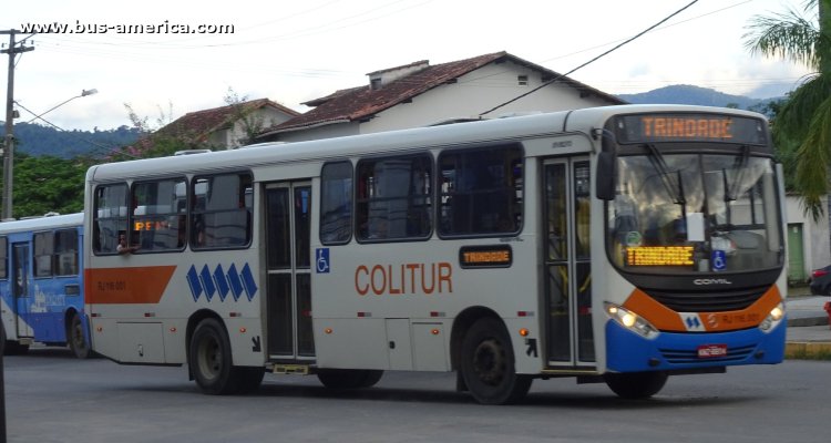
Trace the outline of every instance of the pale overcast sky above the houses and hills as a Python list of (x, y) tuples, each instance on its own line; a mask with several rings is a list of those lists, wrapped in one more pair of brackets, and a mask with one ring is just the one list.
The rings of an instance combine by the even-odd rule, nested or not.
[[(611, 94), (693, 84), (758, 99), (804, 81), (806, 66), (751, 54), (755, 16), (804, 0), (699, 0), (650, 32), (568, 76)], [(0, 31), (34, 50), (14, 59), (20, 122), (61, 130), (151, 128), (225, 99), (301, 103), (368, 84), (367, 73), (429, 60), (439, 64), (506, 51), (567, 73), (660, 22), (690, 0), (175, 0), (7, 1)], [(227, 33), (182, 33), (230, 29)], [(126, 33), (143, 27), (144, 33)], [(54, 31), (54, 28), (53, 28)], [(2, 49), (9, 35), (0, 34)], [(0, 54), (8, 66), (7, 54)], [(7, 69), (0, 84), (8, 97)], [(98, 93), (78, 97), (84, 90)], [(58, 106), (58, 107), (54, 107)], [(45, 114), (44, 114), (45, 113)], [(34, 119), (34, 120), (33, 120)], [(0, 120), (4, 120), (0, 115)]]

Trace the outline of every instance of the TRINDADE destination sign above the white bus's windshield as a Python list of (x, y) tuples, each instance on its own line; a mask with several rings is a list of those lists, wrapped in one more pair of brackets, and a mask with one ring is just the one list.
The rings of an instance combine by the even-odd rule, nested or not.
[(761, 120), (722, 114), (636, 114), (615, 117), (618, 143), (766, 143)]

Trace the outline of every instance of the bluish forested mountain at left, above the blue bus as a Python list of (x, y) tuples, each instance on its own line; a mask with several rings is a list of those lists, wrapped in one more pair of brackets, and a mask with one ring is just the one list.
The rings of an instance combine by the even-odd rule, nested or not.
[[(0, 128), (0, 133), (6, 136), (6, 130)], [(102, 156), (132, 144), (138, 140), (140, 135), (138, 130), (129, 126), (107, 131), (59, 131), (34, 123), (17, 123), (14, 125), (17, 140), (14, 152), (60, 158), (72, 158), (79, 155)]]

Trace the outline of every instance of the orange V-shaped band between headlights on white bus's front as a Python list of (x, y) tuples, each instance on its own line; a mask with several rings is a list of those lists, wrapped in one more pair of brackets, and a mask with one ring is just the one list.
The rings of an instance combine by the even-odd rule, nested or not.
[[(758, 326), (777, 305), (782, 296), (771, 286), (762, 297), (745, 309), (737, 311), (699, 312), (698, 318), (708, 332), (733, 331)], [(624, 308), (642, 316), (661, 331), (686, 331), (678, 312), (655, 301), (639, 289), (635, 289), (624, 303)]]

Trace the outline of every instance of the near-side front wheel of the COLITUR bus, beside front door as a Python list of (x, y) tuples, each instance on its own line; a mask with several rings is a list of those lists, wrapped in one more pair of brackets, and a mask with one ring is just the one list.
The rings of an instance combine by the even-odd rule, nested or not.
[(464, 334), (460, 371), (471, 395), (482, 404), (522, 400), (532, 378), (519, 375), (504, 324), (494, 318), (478, 320)]

